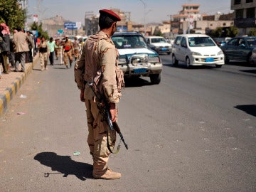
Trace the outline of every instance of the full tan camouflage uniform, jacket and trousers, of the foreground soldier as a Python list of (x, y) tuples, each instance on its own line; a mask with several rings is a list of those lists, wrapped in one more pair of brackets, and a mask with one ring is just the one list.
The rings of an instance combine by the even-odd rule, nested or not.
[[(110, 147), (114, 148), (116, 132), (110, 131), (102, 121), (94, 94), (85, 81), (92, 82), (97, 73), (102, 71), (100, 86), (108, 102), (117, 103), (124, 87), (122, 70), (118, 68), (118, 52), (112, 39), (102, 31), (90, 36), (82, 47), (80, 59), (75, 63), (75, 82), (80, 90), (85, 90), (85, 106), (87, 109), (88, 137), (87, 143), (93, 159), (93, 174), (104, 174), (108, 169), (107, 161), (110, 151), (107, 149), (107, 129)], [(86, 65), (86, 67), (85, 67)], [(83, 72), (85, 70), (85, 72)]]

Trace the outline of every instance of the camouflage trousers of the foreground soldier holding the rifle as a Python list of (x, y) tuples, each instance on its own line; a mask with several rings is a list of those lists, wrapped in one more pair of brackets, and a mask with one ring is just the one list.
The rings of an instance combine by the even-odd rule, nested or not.
[(114, 149), (116, 141), (116, 132), (111, 131), (105, 121), (102, 121), (97, 104), (93, 100), (85, 100), (88, 137), (87, 143), (90, 148), (90, 154), (93, 159), (94, 173), (104, 173), (107, 170), (107, 161), (110, 156), (110, 151), (107, 149), (107, 129), (110, 142), (110, 149)]

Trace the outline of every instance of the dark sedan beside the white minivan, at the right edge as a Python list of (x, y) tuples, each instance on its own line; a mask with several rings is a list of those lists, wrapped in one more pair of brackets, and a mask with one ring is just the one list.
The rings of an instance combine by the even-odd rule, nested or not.
[(256, 36), (235, 37), (221, 47), (225, 54), (225, 63), (229, 63), (230, 60), (252, 63), (254, 48), (256, 48)]

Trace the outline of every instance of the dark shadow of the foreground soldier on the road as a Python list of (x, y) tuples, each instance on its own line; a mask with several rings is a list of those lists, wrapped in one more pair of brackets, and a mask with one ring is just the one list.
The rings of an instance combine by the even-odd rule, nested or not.
[(58, 171), (58, 173), (45, 173), (45, 177), (51, 174), (63, 174), (63, 177), (75, 175), (82, 181), (92, 178), (92, 165), (73, 161), (70, 156), (60, 156), (53, 152), (42, 152), (36, 154), (34, 159), (45, 166), (51, 167), (52, 171)]

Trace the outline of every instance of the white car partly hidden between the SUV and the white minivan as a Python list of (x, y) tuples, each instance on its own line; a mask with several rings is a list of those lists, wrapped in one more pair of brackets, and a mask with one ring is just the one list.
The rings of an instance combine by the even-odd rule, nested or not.
[(167, 43), (166, 39), (161, 36), (146, 36), (146, 43), (157, 53), (171, 54), (171, 43)]

